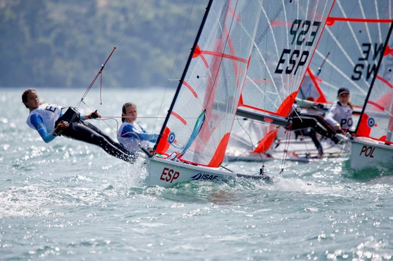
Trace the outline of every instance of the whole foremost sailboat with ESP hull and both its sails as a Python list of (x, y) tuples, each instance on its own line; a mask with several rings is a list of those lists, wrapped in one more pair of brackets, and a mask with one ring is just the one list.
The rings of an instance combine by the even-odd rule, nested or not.
[(271, 115), (264, 119), (286, 121), (332, 4), (210, 0), (153, 153), (141, 148), (149, 186), (268, 179), (220, 168), (246, 75), (267, 79), (264, 108)]

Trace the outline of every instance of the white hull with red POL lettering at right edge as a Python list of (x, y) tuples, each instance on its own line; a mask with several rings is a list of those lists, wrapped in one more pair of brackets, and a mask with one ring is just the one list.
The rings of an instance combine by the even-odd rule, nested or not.
[(393, 145), (358, 137), (351, 142), (351, 168), (393, 167)]

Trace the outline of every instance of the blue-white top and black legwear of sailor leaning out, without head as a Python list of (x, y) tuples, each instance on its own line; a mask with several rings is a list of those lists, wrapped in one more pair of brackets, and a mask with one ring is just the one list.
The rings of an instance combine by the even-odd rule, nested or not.
[(69, 126), (60, 132), (62, 136), (100, 146), (108, 154), (123, 161), (134, 160), (133, 154), (125, 150), (121, 144), (114, 142), (96, 126), (82, 120), (80, 113), (72, 107), (62, 114), (60, 106), (44, 103), (30, 112), (26, 123), (30, 128), (37, 130), (44, 142), (48, 143), (56, 138), (53, 132), (58, 123), (63, 120), (67, 121)]

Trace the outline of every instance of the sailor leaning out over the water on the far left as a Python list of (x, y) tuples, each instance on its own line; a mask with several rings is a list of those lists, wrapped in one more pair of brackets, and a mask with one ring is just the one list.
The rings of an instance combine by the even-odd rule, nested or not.
[(57, 136), (64, 136), (100, 146), (108, 154), (127, 162), (134, 159), (133, 155), (122, 145), (114, 142), (93, 124), (85, 121), (100, 118), (97, 111), (80, 116), (75, 109), (69, 107), (63, 114), (60, 106), (40, 102), (35, 89), (23, 92), (22, 102), (30, 111), (26, 123), (30, 128), (38, 131), (44, 142), (49, 143)]

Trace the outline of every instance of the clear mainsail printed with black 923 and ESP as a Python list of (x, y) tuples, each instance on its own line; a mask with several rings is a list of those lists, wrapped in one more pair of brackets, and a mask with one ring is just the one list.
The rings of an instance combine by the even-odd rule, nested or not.
[[(273, 6), (275, 5), (275, 6)], [(306, 69), (324, 29), (332, 2), (265, 1), (262, 5), (250, 68), (239, 102), (246, 107), (285, 118), (299, 91)], [(265, 152), (277, 134), (275, 126), (263, 128), (264, 136), (253, 150)]]

